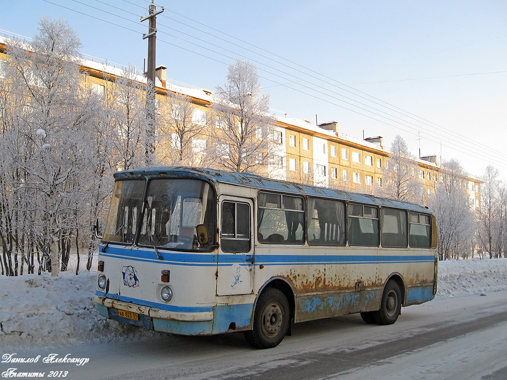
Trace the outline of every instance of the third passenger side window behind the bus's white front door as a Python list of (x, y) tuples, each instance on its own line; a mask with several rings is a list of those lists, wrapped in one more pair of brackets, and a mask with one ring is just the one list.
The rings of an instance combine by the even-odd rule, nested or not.
[(349, 204), (348, 243), (363, 247), (379, 246), (379, 210), (377, 207)]

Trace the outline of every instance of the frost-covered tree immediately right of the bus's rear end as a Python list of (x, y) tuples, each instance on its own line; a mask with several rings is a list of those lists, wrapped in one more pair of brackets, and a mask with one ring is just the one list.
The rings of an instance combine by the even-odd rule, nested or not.
[(474, 246), (475, 215), (468, 199), (466, 173), (452, 160), (442, 167), (442, 180), (430, 201), (437, 218), (439, 259), (467, 258)]

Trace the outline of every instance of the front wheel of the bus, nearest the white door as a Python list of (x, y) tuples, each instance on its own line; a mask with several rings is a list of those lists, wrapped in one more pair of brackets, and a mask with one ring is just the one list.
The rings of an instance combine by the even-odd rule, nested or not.
[(290, 308), (285, 295), (278, 289), (268, 288), (257, 301), (253, 328), (245, 331), (245, 338), (256, 348), (275, 347), (286, 335), (290, 320)]

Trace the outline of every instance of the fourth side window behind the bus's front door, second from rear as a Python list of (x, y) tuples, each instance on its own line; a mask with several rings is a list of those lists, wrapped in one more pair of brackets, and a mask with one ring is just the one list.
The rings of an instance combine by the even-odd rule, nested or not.
[(407, 248), (407, 211), (382, 208), (380, 231), (382, 247)]

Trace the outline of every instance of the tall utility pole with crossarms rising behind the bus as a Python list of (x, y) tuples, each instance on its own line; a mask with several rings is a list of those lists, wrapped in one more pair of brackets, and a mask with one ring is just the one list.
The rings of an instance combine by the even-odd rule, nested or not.
[(157, 12), (157, 6), (150, 4), (148, 7), (149, 15), (141, 17), (141, 22), (149, 20), (148, 34), (143, 34), (142, 39), (148, 39), (148, 71), (146, 72), (146, 147), (145, 158), (146, 165), (153, 164), (153, 154), (155, 153), (155, 46), (157, 38), (157, 15), (164, 12), (164, 7)]

